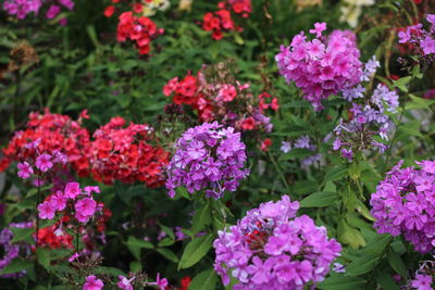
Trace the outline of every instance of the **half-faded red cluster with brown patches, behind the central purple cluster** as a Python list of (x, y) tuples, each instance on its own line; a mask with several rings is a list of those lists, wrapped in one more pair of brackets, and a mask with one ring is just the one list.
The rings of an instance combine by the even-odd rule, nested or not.
[(163, 87), (165, 96), (173, 94), (173, 102), (194, 109), (203, 122), (217, 121), (237, 130), (264, 130), (273, 125), (264, 115), (269, 109), (278, 110), (277, 98), (262, 92), (254, 98), (249, 84), (234, 77), (229, 62), (203, 66), (197, 76), (175, 77)]

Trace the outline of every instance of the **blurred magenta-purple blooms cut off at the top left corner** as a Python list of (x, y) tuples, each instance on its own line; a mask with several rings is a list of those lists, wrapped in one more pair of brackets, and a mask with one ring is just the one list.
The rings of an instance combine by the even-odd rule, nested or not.
[[(42, 9), (45, 1), (41, 0), (5, 0), (3, 3), (3, 9), (9, 15), (16, 15), (18, 20), (24, 20), (27, 14), (34, 13), (38, 15), (39, 10)], [(52, 20), (58, 16), (62, 9), (67, 9), (72, 11), (74, 9), (73, 0), (55, 0), (50, 1), (49, 7), (46, 11), (46, 17)], [(61, 25), (66, 24), (66, 18), (60, 21)]]

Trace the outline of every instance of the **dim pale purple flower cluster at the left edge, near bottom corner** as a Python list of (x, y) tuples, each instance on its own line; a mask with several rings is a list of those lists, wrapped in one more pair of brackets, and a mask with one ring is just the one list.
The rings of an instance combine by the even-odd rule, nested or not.
[[(32, 228), (32, 223), (13, 223), (10, 224), (9, 227), (3, 228), (0, 231), (0, 247), (2, 249), (2, 256), (0, 256), (0, 270), (7, 267), (11, 262), (18, 257), (20, 252), (24, 252), (24, 254), (28, 255), (30, 247), (27, 243), (12, 243), (12, 239), (14, 237), (11, 228)], [(26, 270), (20, 270), (12, 274), (2, 274), (1, 278), (20, 278), (26, 275)]]

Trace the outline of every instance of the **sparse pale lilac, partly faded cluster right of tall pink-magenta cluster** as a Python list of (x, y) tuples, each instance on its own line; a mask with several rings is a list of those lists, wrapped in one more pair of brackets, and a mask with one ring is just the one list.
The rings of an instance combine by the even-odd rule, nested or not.
[[(370, 80), (378, 66), (380, 63), (373, 56), (364, 65), (361, 81)], [(387, 113), (397, 113), (399, 106), (397, 92), (378, 84), (372, 96), (366, 96), (365, 88), (359, 84), (353, 88), (343, 90), (343, 98), (351, 104), (350, 117), (348, 121), (340, 119), (334, 129), (336, 138), (333, 150), (339, 151), (349, 161), (355, 157), (356, 152), (362, 152), (370, 148), (377, 148), (383, 153), (387, 147), (375, 137), (388, 140), (393, 122)]]

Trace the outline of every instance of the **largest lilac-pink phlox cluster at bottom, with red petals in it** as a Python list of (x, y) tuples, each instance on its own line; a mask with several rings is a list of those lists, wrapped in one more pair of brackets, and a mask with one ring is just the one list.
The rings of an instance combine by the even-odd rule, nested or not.
[(296, 217), (298, 209), (298, 202), (284, 196), (219, 231), (214, 269), (224, 285), (228, 270), (238, 280), (234, 289), (302, 289), (324, 279), (341, 247), (309, 216)]

